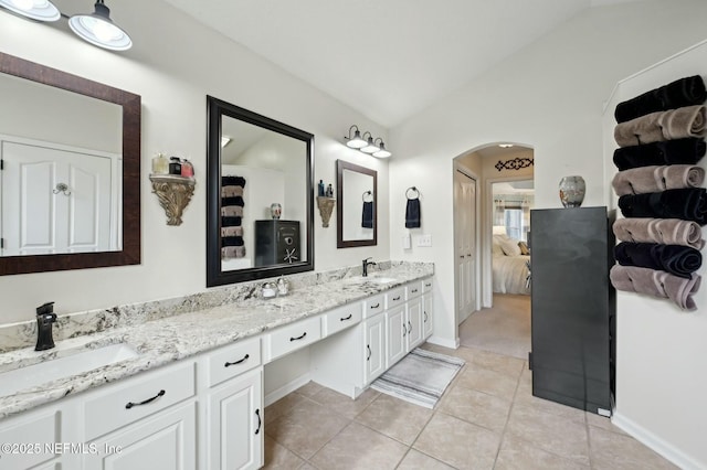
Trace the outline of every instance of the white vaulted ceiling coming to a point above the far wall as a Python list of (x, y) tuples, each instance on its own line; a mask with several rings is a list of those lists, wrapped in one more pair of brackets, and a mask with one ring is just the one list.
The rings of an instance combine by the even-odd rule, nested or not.
[(393, 127), (588, 8), (637, 0), (166, 0)]

